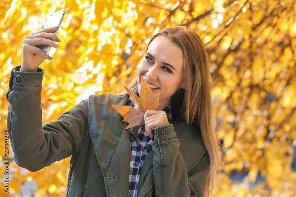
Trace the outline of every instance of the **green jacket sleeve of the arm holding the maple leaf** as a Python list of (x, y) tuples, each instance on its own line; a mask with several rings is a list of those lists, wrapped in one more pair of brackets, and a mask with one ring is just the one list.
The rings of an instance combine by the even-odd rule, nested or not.
[(187, 172), (179, 147), (180, 143), (173, 124), (154, 129), (152, 144), (152, 149), (154, 150), (154, 196), (203, 197), (209, 169), (208, 153), (203, 153), (198, 163)]

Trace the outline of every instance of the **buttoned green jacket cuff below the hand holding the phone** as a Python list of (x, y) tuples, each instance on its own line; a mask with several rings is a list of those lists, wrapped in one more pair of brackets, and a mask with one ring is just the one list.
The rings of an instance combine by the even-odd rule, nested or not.
[(21, 66), (16, 66), (10, 72), (9, 87), (12, 85), (24, 87), (36, 87), (42, 84), (43, 70), (37, 69), (37, 72), (20, 72)]

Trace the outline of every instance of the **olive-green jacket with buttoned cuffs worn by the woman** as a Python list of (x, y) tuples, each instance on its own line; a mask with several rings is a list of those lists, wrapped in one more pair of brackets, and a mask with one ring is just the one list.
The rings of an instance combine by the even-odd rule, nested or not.
[[(112, 108), (128, 95), (91, 95), (57, 121), (42, 125), (43, 70), (11, 71), (7, 127), (15, 162), (35, 172), (71, 157), (67, 196), (128, 196), (131, 151), (126, 122)], [(165, 132), (163, 138), (157, 131)], [(209, 155), (200, 129), (181, 118), (155, 128), (138, 196), (203, 196)]]

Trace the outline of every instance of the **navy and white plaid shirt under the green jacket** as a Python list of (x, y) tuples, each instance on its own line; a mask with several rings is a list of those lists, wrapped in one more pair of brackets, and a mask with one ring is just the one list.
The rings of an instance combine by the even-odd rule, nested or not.
[[(133, 102), (128, 100), (126, 105), (133, 106)], [(172, 123), (172, 112), (170, 105), (165, 108), (165, 113), (168, 116), (168, 121)], [(131, 132), (132, 128), (129, 129), (130, 136), (130, 148), (131, 148), (131, 163), (130, 163), (130, 176), (129, 176), (129, 197), (137, 196), (139, 188), (139, 180), (141, 175), (141, 168), (144, 160), (148, 156), (151, 147), (152, 139), (148, 136), (145, 131), (145, 124), (139, 128), (136, 136)]]

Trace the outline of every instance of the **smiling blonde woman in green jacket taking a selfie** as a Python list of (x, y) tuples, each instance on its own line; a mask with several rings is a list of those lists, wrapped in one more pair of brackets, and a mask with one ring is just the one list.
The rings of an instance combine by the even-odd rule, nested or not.
[(133, 106), (125, 91), (91, 95), (42, 125), (38, 66), (52, 58), (36, 45), (56, 47), (52, 40), (59, 39), (50, 32), (57, 28), (26, 36), (22, 65), (11, 72), (7, 126), (16, 163), (37, 171), (72, 155), (67, 196), (212, 196), (221, 156), (200, 37), (176, 26), (149, 41), (128, 87), (139, 93), (143, 77), (154, 94), (160, 91), (160, 105), (147, 110), (139, 126), (124, 129), (127, 123), (111, 107)]

